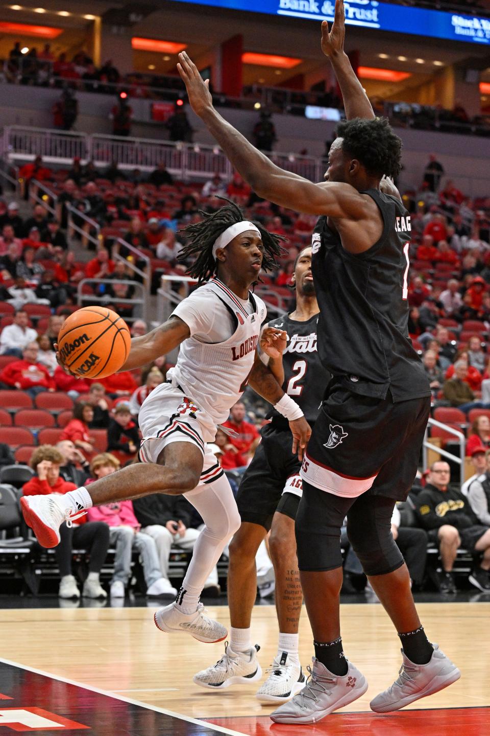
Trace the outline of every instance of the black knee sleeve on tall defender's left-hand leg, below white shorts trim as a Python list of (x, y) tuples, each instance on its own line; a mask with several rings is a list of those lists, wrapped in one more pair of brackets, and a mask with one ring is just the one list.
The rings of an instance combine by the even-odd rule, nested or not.
[[(342, 567), (340, 527), (351, 499), (320, 491), (303, 481), (303, 498), (296, 514), (298, 567), (303, 572), (326, 572)], [(347, 503), (347, 507), (348, 507)]]

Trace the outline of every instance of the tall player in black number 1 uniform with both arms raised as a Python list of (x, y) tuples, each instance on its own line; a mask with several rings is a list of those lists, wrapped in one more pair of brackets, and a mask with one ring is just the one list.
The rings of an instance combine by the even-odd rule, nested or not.
[(337, 128), (320, 184), (279, 169), (223, 120), (198, 69), (185, 52), (179, 54), (193, 110), (256, 194), (324, 218), (315, 234), (312, 272), (319, 355), (333, 378), (303, 461), (296, 518), (316, 657), (306, 687), (271, 714), (280, 723), (316, 723), (367, 690), (364, 675), (345, 659), (340, 637), (339, 530), (345, 515), (350, 542), (403, 646), (400, 677), (371, 701), (372, 710), (399, 710), (461, 676), (425, 635), (391, 534), (394, 503), (406, 498), (417, 471), (430, 387), (408, 338), (410, 217), (396, 189), (381, 191), (383, 176), (400, 171), (401, 141), (388, 121), (375, 118), (344, 53), (344, 37), (343, 0), (336, 0), (331, 32), (322, 24), (322, 49), (348, 121)]

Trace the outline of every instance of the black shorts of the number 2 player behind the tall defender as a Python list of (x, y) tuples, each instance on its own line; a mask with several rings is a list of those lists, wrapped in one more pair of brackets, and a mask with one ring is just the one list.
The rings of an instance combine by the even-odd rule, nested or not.
[(262, 442), (237, 493), (242, 521), (259, 524), (269, 531), (276, 511), (293, 520), (296, 518), (302, 484), (300, 461), (291, 448), (291, 432), (265, 425)]

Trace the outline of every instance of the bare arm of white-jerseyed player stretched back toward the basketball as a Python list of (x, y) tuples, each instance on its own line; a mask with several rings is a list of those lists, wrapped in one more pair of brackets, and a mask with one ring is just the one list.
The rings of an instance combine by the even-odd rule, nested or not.
[(170, 353), (189, 336), (190, 330), (184, 320), (177, 316), (170, 317), (163, 325), (131, 340), (131, 351), (120, 371), (133, 370), (151, 363), (160, 355)]

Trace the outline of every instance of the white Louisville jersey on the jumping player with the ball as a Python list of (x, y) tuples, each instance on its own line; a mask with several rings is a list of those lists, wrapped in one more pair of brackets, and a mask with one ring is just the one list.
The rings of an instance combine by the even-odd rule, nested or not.
[[(209, 313), (200, 315), (200, 327), (195, 331), (194, 320), (185, 311), (185, 302), (194, 295), (195, 302), (201, 299)], [(181, 302), (173, 314), (190, 325), (191, 336), (181, 344), (177, 364), (168, 371), (167, 378), (181, 386), (216, 425), (226, 422), (231, 406), (245, 391), (267, 308), (251, 293), (247, 301), (239, 299), (214, 278)], [(223, 323), (231, 328), (223, 331)], [(220, 330), (222, 335), (231, 332), (231, 336), (220, 342), (206, 342)]]

